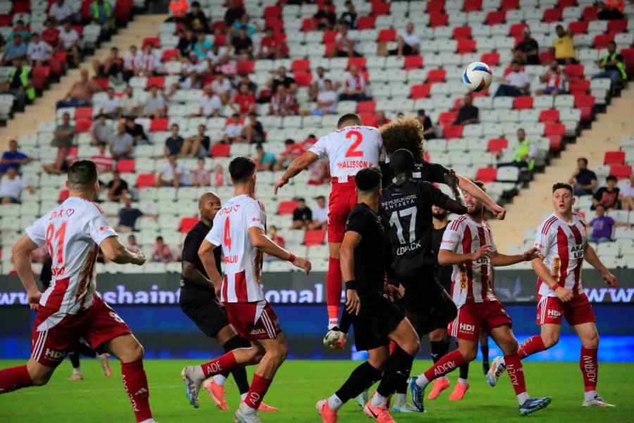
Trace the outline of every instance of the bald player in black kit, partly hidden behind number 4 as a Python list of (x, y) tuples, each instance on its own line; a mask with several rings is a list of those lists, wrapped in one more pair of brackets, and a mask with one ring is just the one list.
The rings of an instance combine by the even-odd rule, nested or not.
[[(213, 218), (220, 210), (220, 198), (213, 192), (205, 192), (198, 200), (198, 210), (200, 221), (192, 228), (192, 231), (189, 231), (182, 246), (180, 308), (206, 336), (216, 339), (220, 345), (223, 345), (225, 352), (228, 353), (236, 348), (249, 348), (251, 343), (239, 336), (229, 323), (225, 309), (216, 297), (216, 288), (209, 280), (201, 257), (198, 255), (198, 250), (205, 236), (211, 231)], [(220, 248), (213, 250), (213, 255), (204, 255), (204, 259), (209, 261), (207, 266), (216, 266), (218, 274), (222, 271), (220, 269), (221, 255)], [(236, 367), (231, 374), (240, 391), (240, 398), (244, 400), (249, 392), (247, 371), (244, 370), (244, 367)], [(220, 410), (229, 409), (225, 400), (224, 384), (226, 378), (226, 373), (216, 374), (203, 384), (216, 407)], [(278, 409), (261, 403), (259, 410), (276, 411)]]

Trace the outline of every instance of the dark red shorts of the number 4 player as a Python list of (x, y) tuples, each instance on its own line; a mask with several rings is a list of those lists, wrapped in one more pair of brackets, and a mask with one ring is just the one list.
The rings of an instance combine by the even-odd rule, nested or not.
[(268, 301), (225, 302), (230, 324), (242, 338), (273, 339), (282, 331), (280, 319)]

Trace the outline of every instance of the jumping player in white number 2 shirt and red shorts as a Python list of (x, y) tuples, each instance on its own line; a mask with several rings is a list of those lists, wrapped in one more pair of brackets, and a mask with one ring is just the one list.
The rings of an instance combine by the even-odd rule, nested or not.
[(356, 204), (354, 176), (362, 168), (379, 166), (384, 155), (383, 140), (378, 129), (361, 125), (359, 116), (344, 114), (339, 118), (335, 132), (319, 138), (309, 151), (291, 162), (284, 175), (275, 182), (275, 193), (297, 173), (325, 155), (328, 155), (330, 161), (332, 191), (328, 200), (328, 333), (324, 344), (331, 345), (342, 338), (338, 327), (342, 291), (339, 250), (344, 238), (346, 219)]

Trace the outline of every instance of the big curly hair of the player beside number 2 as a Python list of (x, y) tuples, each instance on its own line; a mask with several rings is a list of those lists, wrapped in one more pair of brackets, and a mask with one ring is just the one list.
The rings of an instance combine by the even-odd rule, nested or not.
[(381, 126), (380, 132), (388, 155), (397, 149), (404, 148), (414, 155), (416, 161), (423, 159), (425, 137), (423, 137), (423, 125), (417, 118), (411, 116), (398, 118)]

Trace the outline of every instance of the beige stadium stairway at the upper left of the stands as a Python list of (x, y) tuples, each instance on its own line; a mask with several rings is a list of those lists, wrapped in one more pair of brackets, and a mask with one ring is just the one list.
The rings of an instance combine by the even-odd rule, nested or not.
[(80, 64), (77, 69), (69, 69), (58, 84), (51, 85), (49, 90), (44, 92), (42, 97), (37, 97), (35, 103), (27, 106), (24, 113), (15, 114), (13, 119), (7, 121), (4, 128), (0, 128), (0, 151), (8, 147), (9, 140), (18, 140), (20, 135), (37, 133), (37, 123), (40, 121), (55, 120), (55, 102), (62, 99), (66, 92), (73, 85), (73, 82), (80, 78), (80, 69), (87, 69), (91, 75), (92, 61), (94, 59), (103, 60), (112, 47), (118, 47), (120, 54), (125, 54), (130, 45), (141, 45), (146, 37), (155, 37), (156, 28), (166, 19), (166, 15), (137, 15), (130, 21), (127, 27), (120, 28), (109, 42), (101, 44), (99, 49), (92, 56)]

